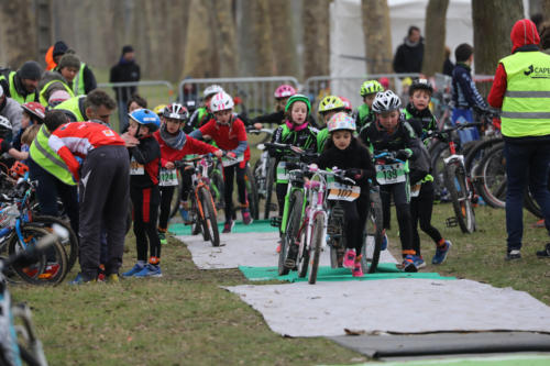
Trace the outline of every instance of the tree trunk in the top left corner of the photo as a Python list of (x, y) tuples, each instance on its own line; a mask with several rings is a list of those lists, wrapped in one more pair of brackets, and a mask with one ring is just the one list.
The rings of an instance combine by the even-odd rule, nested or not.
[(24, 62), (38, 58), (33, 1), (0, 0), (0, 60), (16, 70)]

